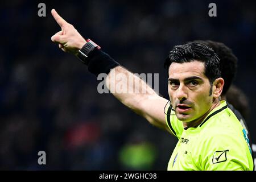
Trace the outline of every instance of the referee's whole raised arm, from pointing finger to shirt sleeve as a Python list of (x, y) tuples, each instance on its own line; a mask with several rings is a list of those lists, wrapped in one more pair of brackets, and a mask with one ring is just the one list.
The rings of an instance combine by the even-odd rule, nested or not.
[[(52, 16), (61, 27), (61, 31), (53, 35), (51, 40), (58, 43), (59, 48), (64, 52), (70, 52), (77, 56), (79, 54), (79, 50), (86, 44), (86, 40), (82, 38), (72, 24), (69, 24), (61, 18), (55, 10), (52, 10)], [(96, 53), (94, 53), (94, 55), (88, 55), (88, 58), (94, 62), (101, 61), (102, 63), (104, 60), (102, 60), (101, 57), (108, 57), (105, 53), (101, 53), (103, 55), (101, 57), (95, 54)], [(112, 61), (110, 58), (108, 59)], [(100, 63), (88, 63), (88, 66), (91, 67), (91, 69), (88, 68), (89, 71), (91, 70), (95, 75), (101, 73), (101, 71), (96, 71), (98, 67), (97, 64)], [(106, 63), (102, 64), (107, 65)], [(106, 67), (108, 67), (108, 65)], [(160, 97), (150, 86), (146, 84), (146, 82), (133, 73), (127, 71), (127, 69), (115, 64), (114, 62), (112, 64), (112, 68), (113, 69), (111, 69), (111, 71), (106, 72), (108, 76), (105, 78), (106, 85), (110, 92), (113, 93), (113, 95), (121, 101), (122, 104), (134, 110), (135, 113), (142, 115), (152, 125), (162, 129), (167, 129), (168, 127), (165, 122), (164, 106), (167, 104), (168, 100)], [(123, 81), (118, 75), (125, 76), (130, 81), (127, 81), (127, 79), (126, 81)], [(120, 88), (127, 88), (127, 92), (120, 92), (120, 90), (118, 90)]]

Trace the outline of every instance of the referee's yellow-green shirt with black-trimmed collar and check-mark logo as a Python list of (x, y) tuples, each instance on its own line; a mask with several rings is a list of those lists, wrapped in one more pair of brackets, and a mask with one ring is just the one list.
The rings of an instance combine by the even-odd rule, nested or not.
[(249, 139), (225, 101), (197, 127), (184, 130), (170, 107), (166, 122), (179, 139), (168, 170), (253, 170)]

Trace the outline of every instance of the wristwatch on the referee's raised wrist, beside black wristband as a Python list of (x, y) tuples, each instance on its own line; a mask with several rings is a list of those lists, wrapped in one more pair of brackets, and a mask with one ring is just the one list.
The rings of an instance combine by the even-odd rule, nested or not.
[(82, 63), (88, 65), (88, 55), (89, 53), (94, 49), (94, 48), (98, 48), (100, 49), (101, 47), (98, 46), (96, 43), (94, 43), (92, 40), (90, 39), (86, 39), (86, 43), (84, 44), (84, 46), (82, 46), (82, 48), (79, 50), (79, 53), (77, 55), (77, 57), (79, 57), (80, 61), (82, 61)]

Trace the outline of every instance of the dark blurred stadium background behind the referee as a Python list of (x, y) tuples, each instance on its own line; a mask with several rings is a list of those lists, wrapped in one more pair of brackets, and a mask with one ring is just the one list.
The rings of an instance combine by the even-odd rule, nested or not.
[[(210, 2), (217, 17), (208, 16)], [(236, 84), (249, 98), (246, 122), (256, 141), (255, 1), (2, 1), (0, 6), (0, 169), (166, 170), (177, 140), (98, 94), (98, 81), (51, 42), (55, 8), (85, 37), (134, 73), (159, 73), (176, 44), (224, 42), (238, 57)], [(47, 165), (38, 165), (38, 151)]]

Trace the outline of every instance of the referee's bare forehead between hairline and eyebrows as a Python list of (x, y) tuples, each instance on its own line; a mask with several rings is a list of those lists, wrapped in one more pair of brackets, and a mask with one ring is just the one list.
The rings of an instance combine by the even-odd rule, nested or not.
[(189, 63), (172, 63), (168, 73), (170, 78), (179, 80), (191, 76), (207, 78), (204, 75), (204, 63), (201, 61), (192, 61)]

